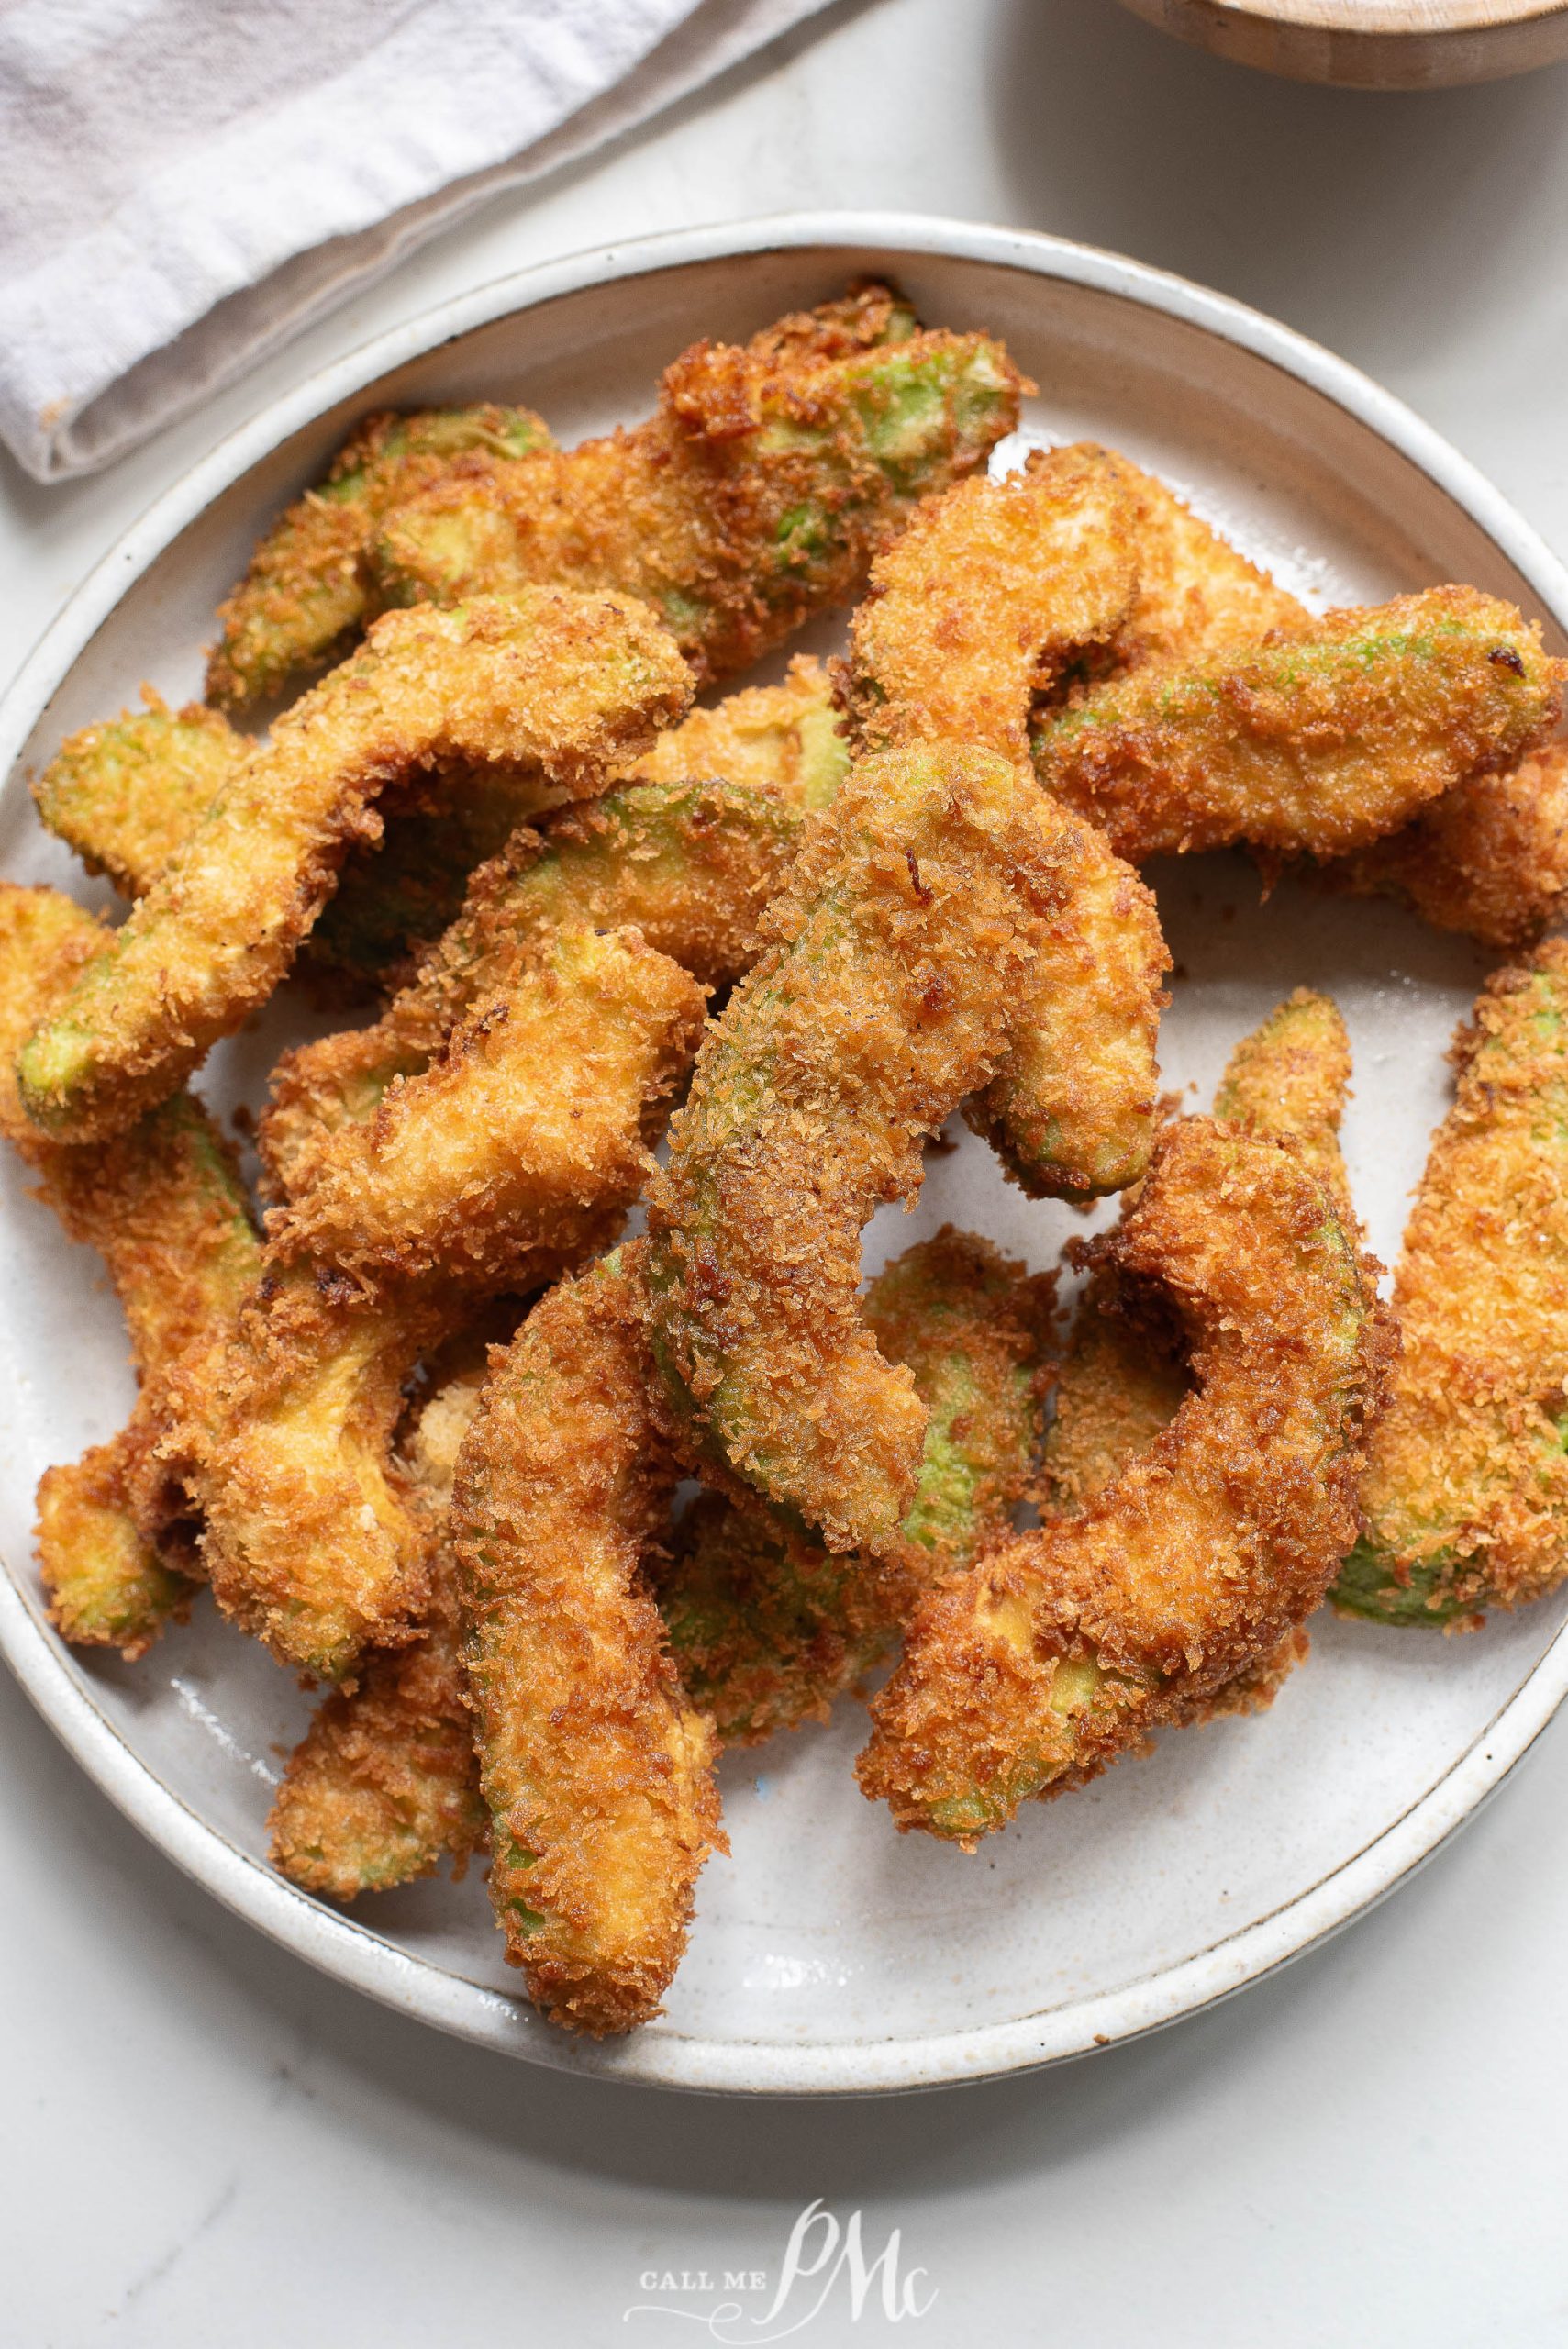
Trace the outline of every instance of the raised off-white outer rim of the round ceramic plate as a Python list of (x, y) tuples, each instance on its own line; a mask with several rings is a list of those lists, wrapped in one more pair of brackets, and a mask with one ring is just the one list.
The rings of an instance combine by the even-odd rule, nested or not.
[[(1035, 230), (927, 214), (791, 211), (584, 247), (451, 296), (315, 369), (153, 498), (94, 564), (0, 698), (0, 778), (122, 594), (251, 465), (380, 376), (500, 317), (594, 284), (702, 261), (800, 249), (981, 261), (1157, 310), (1305, 383), (1371, 428), (1507, 554), (1542, 608), (1568, 630), (1568, 568), (1512, 503), (1413, 409), (1347, 359), (1246, 303), (1101, 247)], [(1117, 1990), (1035, 2015), (897, 2039), (704, 2039), (653, 2025), (622, 2041), (577, 2041), (521, 1999), (394, 1947), (352, 1914), (298, 1891), (202, 1820), (127, 1743), (31, 1588), (0, 1574), (0, 1654), (87, 1776), (192, 1882), (322, 1973), (453, 2037), (552, 2069), (641, 2086), (737, 2095), (866, 2095), (1042, 2069), (1120, 2046), (1232, 1997), (1322, 1945), (1404, 1884), (1502, 1785), (1568, 1696), (1568, 1623), (1444, 1776), (1312, 1886), (1209, 1947)]]

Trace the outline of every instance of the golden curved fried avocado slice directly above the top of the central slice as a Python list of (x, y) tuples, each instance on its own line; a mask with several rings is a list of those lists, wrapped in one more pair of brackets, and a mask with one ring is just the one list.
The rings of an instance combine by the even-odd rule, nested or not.
[(1136, 585), (1131, 507), (1091, 442), (922, 498), (854, 613), (857, 747), (948, 738), (1026, 761), (1030, 695), (1117, 634)]

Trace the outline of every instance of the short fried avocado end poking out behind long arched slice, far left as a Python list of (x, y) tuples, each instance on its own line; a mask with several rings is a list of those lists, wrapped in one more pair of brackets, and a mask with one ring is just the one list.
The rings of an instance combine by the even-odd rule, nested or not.
[(47, 829), (122, 897), (153, 888), (251, 749), (202, 702), (169, 709), (146, 686), (143, 698), (146, 709), (73, 733), (33, 785)]

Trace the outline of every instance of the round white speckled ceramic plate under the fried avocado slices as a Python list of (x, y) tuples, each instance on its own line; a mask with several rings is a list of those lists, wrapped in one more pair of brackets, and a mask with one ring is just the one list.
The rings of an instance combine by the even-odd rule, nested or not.
[[(648, 411), (699, 334), (744, 336), (845, 280), (892, 272), (922, 315), (988, 327), (1038, 378), (1030, 428), (1094, 432), (1164, 472), (1312, 599), (1474, 580), (1547, 620), (1568, 576), (1441, 439), (1350, 366), (1197, 287), (1049, 237), (948, 221), (812, 216), (584, 254), (401, 327), (300, 385), (178, 482), (75, 594), (0, 712), (0, 869), (85, 888), (33, 820), (23, 770), (59, 738), (200, 679), (211, 611), (279, 500), (371, 404), (493, 395), (563, 439)], [(822, 639), (829, 641), (829, 639)], [(1392, 1257), (1444, 1106), (1444, 1048), (1481, 958), (1383, 904), (1282, 888), (1249, 867), (1164, 867), (1181, 965), (1167, 1083), (1207, 1102), (1230, 1043), (1298, 982), (1333, 989), (1357, 1052), (1347, 1153)], [(214, 1055), (228, 1106), (298, 1034), (279, 1003)], [(113, 1299), (0, 1170), (0, 1644), (61, 1741), (192, 1877), (300, 1957), (509, 2055), (613, 2079), (854, 2093), (981, 2079), (1077, 2055), (1239, 1990), (1347, 1924), (1467, 1818), (1563, 1698), (1563, 1604), (1472, 1640), (1322, 1618), (1270, 1715), (1167, 1736), (965, 1858), (892, 1835), (854, 1790), (845, 1705), (725, 1764), (732, 1858), (699, 1886), (669, 2013), (582, 2046), (509, 1994), (477, 1875), (364, 1900), (352, 1917), (265, 1865), (263, 1820), (305, 1698), (197, 1609), (141, 1665), (70, 1654), (31, 1564), (33, 1487), (131, 1398)], [(1082, 1229), (1009, 1191), (969, 1137), (932, 1160), (911, 1219), (878, 1217), (869, 1264), (953, 1217), (1045, 1266)]]

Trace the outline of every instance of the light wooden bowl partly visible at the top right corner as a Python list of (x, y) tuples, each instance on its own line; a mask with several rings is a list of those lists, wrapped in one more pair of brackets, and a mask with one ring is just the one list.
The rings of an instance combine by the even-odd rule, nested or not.
[(1568, 56), (1568, 0), (1122, 0), (1239, 66), (1340, 89), (1495, 82)]

